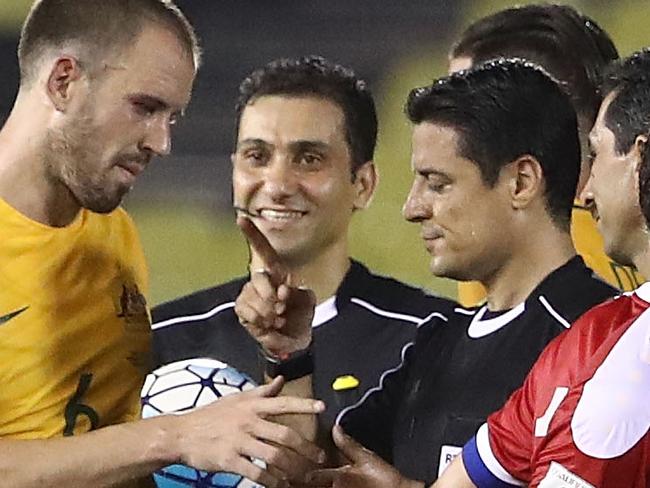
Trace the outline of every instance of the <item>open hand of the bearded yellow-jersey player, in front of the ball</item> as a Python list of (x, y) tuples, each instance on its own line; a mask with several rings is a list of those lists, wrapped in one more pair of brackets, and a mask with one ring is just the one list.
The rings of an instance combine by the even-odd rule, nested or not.
[[(229, 395), (180, 416), (170, 416), (179, 462), (207, 471), (231, 471), (267, 488), (303, 480), (325, 461), (325, 454), (289, 427), (272, 422), (277, 415), (322, 412), (322, 402), (277, 396), (281, 377), (268, 385)], [(267, 469), (254, 464), (261, 459)]]

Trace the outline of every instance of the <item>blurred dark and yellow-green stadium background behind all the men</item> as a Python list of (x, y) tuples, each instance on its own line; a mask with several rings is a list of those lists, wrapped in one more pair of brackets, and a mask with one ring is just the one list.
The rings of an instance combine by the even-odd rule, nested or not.
[[(177, 0), (205, 52), (174, 151), (155, 161), (126, 201), (150, 265), (150, 302), (210, 286), (245, 271), (246, 247), (230, 209), (230, 151), (239, 82), (278, 57), (320, 54), (353, 68), (375, 93), (381, 174), (371, 208), (353, 224), (353, 255), (374, 269), (438, 293), (416, 226), (401, 218), (410, 185), (408, 91), (446, 71), (464, 26), (515, 4), (505, 0)], [(565, 1), (610, 32), (622, 55), (650, 45), (647, 0)], [(16, 46), (31, 0), (0, 0), (0, 117), (18, 86)]]

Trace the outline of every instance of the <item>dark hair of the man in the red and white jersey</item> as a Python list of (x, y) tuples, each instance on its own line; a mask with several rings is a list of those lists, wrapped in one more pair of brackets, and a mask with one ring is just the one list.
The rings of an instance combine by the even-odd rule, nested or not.
[[(603, 97), (613, 93), (603, 122), (614, 134), (615, 150), (626, 154), (638, 136), (650, 135), (650, 49), (613, 64), (603, 77)], [(639, 170), (639, 203), (650, 226), (650, 168), (647, 144)]]

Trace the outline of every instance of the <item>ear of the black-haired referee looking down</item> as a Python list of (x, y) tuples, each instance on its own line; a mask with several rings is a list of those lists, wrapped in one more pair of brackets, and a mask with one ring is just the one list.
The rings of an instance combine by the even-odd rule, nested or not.
[(525, 154), (502, 171), (501, 177), (508, 178), (508, 191), (513, 208), (526, 208), (544, 192), (544, 173), (537, 158)]

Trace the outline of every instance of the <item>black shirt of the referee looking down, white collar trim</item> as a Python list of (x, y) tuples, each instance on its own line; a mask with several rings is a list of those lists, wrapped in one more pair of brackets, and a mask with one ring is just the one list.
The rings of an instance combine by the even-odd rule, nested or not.
[(511, 310), (457, 307), (446, 318), (435, 316), (419, 327), (402, 363), (360, 405), (344, 410), (340, 423), (428, 486), (523, 383), (544, 347), (616, 293), (574, 257)]

